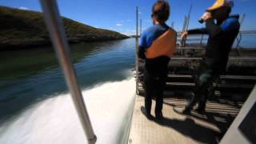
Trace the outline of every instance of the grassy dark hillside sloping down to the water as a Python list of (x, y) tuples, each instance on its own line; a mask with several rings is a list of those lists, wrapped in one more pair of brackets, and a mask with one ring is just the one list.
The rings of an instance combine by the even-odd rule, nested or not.
[[(87, 26), (63, 18), (69, 43), (109, 41), (129, 38), (112, 30)], [(50, 36), (42, 13), (0, 6), (0, 50), (18, 50), (50, 46)]]

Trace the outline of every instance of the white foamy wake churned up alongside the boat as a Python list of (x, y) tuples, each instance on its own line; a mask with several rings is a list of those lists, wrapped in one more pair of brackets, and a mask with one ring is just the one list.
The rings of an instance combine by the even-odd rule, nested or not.
[[(122, 82), (107, 82), (90, 90), (83, 90), (97, 143), (120, 142), (123, 124), (134, 101), (134, 78)], [(46, 99), (18, 118), (0, 127), (0, 143), (5, 144), (80, 144), (86, 137), (78, 120), (70, 94)]]

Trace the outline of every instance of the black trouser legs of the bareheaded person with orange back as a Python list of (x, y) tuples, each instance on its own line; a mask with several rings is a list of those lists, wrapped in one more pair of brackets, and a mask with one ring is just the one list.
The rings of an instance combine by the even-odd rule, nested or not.
[(149, 70), (144, 69), (144, 89), (145, 89), (145, 108), (146, 113), (150, 114), (152, 98), (156, 97), (154, 113), (162, 113), (163, 90), (166, 86), (167, 71), (159, 74), (150, 74)]

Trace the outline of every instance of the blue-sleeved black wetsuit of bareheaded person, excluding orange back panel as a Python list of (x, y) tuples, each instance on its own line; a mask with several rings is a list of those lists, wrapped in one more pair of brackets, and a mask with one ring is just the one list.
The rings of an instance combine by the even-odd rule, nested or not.
[(145, 108), (146, 113), (150, 114), (151, 99), (156, 96), (156, 117), (162, 115), (163, 90), (166, 86), (167, 66), (170, 61), (169, 57), (159, 56), (158, 58), (147, 59), (145, 51), (151, 44), (162, 34), (169, 30), (170, 27), (165, 23), (151, 26), (143, 31), (139, 44), (138, 57), (145, 59), (143, 82), (146, 92)]

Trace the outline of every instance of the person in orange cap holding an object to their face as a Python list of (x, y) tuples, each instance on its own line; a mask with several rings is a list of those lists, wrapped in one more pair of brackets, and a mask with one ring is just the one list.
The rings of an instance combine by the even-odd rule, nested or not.
[(234, 2), (231, 0), (217, 0), (213, 6), (206, 9), (205, 14), (199, 19), (199, 22), (206, 23), (205, 28), (182, 33), (182, 39), (186, 38), (188, 34), (209, 34), (209, 38), (205, 58), (203, 58), (196, 76), (192, 98), (184, 110), (174, 107), (174, 111), (190, 114), (197, 102), (196, 110), (198, 112), (205, 110), (208, 88), (215, 78), (226, 71), (230, 50), (240, 29), (239, 15), (230, 16), (233, 6)]

